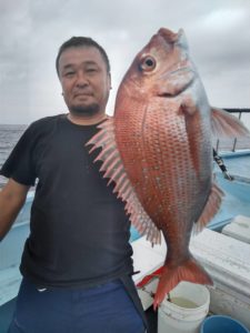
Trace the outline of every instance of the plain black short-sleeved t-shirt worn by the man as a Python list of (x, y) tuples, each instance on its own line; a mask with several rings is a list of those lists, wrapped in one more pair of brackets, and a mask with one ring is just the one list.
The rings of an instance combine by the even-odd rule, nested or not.
[(96, 125), (66, 114), (32, 123), (1, 174), (38, 184), (21, 273), (39, 286), (90, 286), (132, 273), (129, 219), (84, 143)]

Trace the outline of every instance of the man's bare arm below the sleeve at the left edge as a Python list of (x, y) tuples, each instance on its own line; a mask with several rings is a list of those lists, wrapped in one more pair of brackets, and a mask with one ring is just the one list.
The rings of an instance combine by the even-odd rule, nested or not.
[(18, 213), (20, 212), (29, 186), (22, 185), (10, 179), (0, 191), (0, 241), (10, 230)]

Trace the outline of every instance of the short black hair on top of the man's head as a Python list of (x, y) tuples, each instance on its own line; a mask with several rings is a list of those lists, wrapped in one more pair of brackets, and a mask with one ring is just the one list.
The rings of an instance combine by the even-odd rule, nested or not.
[(61, 57), (61, 53), (64, 50), (69, 49), (69, 48), (80, 48), (80, 47), (93, 47), (93, 48), (97, 48), (99, 50), (99, 52), (101, 53), (101, 57), (103, 58), (104, 62), (106, 62), (108, 73), (110, 72), (109, 58), (108, 58), (104, 49), (98, 42), (96, 42), (90, 37), (71, 37), (63, 44), (61, 44), (61, 47), (60, 47), (60, 49), (58, 51), (58, 56), (57, 56), (57, 59), (56, 59), (56, 69), (57, 69), (58, 75), (59, 75), (59, 59)]

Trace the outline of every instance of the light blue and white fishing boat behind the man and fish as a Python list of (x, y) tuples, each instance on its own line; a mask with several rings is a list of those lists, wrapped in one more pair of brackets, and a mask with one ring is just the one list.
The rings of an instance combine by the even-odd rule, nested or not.
[[(250, 330), (250, 149), (221, 151), (220, 157), (233, 178), (230, 181), (214, 163), (217, 181), (224, 192), (219, 213), (208, 228), (193, 236), (190, 250), (214, 281), (210, 287), (210, 313), (231, 315)], [(217, 150), (219, 142), (216, 143)], [(29, 218), (34, 192), (30, 191), (11, 231), (0, 243), (0, 332), (6, 333), (12, 317), (17, 293), (21, 282), (19, 264), (26, 239), (29, 235)], [(248, 232), (247, 232), (248, 230)], [(133, 276), (144, 311), (154, 322), (151, 311), (158, 284), (158, 270), (166, 258), (166, 244), (151, 246), (144, 236), (131, 228), (133, 248)], [(141, 283), (144, 281), (146, 283)]]

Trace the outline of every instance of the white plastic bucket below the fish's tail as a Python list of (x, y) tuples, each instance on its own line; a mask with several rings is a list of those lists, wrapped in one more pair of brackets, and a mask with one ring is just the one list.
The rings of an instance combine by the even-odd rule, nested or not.
[[(158, 333), (199, 333), (209, 312), (210, 293), (201, 284), (180, 282), (158, 310)], [(174, 304), (177, 302), (179, 305)]]

